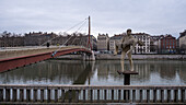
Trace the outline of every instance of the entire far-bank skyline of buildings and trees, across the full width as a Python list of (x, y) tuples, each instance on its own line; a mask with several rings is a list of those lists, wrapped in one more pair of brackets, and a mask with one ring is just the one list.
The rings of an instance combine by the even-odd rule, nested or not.
[[(124, 35), (126, 35), (126, 33), (115, 34), (112, 37), (109, 37), (108, 34), (98, 34), (97, 39), (91, 35), (90, 42), (92, 49), (114, 51), (115, 45), (121, 42)], [(186, 50), (186, 30), (179, 33), (177, 39), (172, 35), (152, 36), (147, 33), (133, 33), (132, 36), (144, 43), (143, 46), (137, 45), (133, 54), (166, 54)], [(0, 47), (40, 46), (47, 40), (50, 40), (50, 45), (88, 46), (89, 35), (82, 33), (57, 35), (55, 33), (33, 32), (24, 36), (11, 36), (10, 33), (4, 33), (4, 35), (0, 37)]]

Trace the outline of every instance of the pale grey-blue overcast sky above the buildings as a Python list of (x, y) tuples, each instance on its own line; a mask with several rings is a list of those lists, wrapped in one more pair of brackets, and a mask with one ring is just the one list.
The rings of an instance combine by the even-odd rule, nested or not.
[(178, 37), (186, 30), (186, 0), (0, 0), (0, 33), (59, 33), (89, 15), (94, 36), (131, 28)]

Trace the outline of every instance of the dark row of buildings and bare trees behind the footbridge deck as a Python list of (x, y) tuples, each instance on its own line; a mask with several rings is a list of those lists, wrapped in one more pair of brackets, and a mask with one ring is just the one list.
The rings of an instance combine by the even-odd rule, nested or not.
[[(96, 38), (91, 35), (91, 47), (93, 50), (97, 49)], [(57, 35), (55, 33), (30, 32), (24, 35), (13, 35), (11, 33), (0, 34), (0, 47), (18, 47), (18, 46), (45, 46), (50, 45), (75, 45), (88, 46), (89, 35), (81, 33)]]

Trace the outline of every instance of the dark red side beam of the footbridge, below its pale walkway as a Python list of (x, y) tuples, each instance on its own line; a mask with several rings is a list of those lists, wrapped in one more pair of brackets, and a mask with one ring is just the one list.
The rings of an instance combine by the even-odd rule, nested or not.
[[(86, 54), (92, 54), (90, 50), (84, 49), (84, 48), (73, 48), (73, 49), (59, 50), (55, 55), (55, 57), (58, 57), (61, 55), (67, 55), (67, 54), (74, 52), (74, 51), (83, 51)], [(1, 59), (0, 60), (0, 72), (53, 58), (51, 54), (53, 52), (43, 52), (43, 54), (31, 55), (31, 56), (22, 56), (22, 57), (9, 58), (9, 59)]]

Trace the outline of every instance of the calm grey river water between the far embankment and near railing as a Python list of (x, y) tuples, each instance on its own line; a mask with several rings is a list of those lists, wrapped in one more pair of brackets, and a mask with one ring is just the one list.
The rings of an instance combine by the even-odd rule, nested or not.
[[(129, 62), (125, 61), (125, 70)], [(186, 61), (135, 60), (131, 85), (185, 85)], [(120, 60), (46, 60), (0, 73), (0, 84), (123, 85)]]

